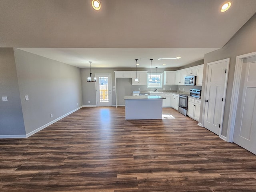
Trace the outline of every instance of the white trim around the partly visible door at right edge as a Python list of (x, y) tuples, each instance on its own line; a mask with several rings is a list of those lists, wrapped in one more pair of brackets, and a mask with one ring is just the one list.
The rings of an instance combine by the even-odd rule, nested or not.
[(256, 56), (256, 52), (236, 56), (234, 82), (233, 82), (230, 111), (229, 111), (229, 117), (228, 117), (228, 132), (227, 132), (227, 139), (226, 139), (228, 142), (233, 142), (233, 138), (234, 138), (239, 88), (240, 88), (240, 82), (242, 78), (242, 65), (243, 65), (244, 59), (249, 57), (254, 57), (254, 56)]

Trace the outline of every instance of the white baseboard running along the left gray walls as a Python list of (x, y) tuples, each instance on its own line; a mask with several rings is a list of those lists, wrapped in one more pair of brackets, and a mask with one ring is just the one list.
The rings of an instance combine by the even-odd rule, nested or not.
[(66, 114), (64, 114), (64, 115), (62, 115), (62, 116), (60, 116), (59, 118), (57, 118), (57, 119), (55, 119), (55, 120), (53, 120), (53, 121), (51, 121), (51, 122), (49, 122), (49, 123), (47, 123), (47, 124), (45, 124), (45, 125), (39, 127), (39, 128), (37, 128), (36, 130), (34, 130), (34, 131), (32, 131), (32, 132), (30, 132), (30, 133), (28, 133), (28, 134), (26, 134), (26, 135), (0, 135), (0, 138), (3, 138), (3, 139), (8, 139), (8, 138), (28, 138), (28, 137), (30, 137), (31, 135), (37, 133), (38, 131), (40, 131), (40, 130), (42, 130), (42, 129), (48, 127), (48, 126), (50, 126), (51, 124), (54, 124), (54, 123), (57, 122), (58, 120), (61, 120), (62, 118), (64, 118), (64, 117), (66, 117), (66, 116), (68, 116), (68, 115), (74, 113), (75, 111), (77, 111), (78, 109), (80, 109), (80, 108), (82, 108), (82, 107), (83, 107), (83, 106), (80, 106), (80, 107), (78, 107), (78, 108), (76, 108), (76, 109), (74, 109), (74, 110), (72, 110), (72, 111), (70, 111), (70, 112), (68, 112), (68, 113), (66, 113)]

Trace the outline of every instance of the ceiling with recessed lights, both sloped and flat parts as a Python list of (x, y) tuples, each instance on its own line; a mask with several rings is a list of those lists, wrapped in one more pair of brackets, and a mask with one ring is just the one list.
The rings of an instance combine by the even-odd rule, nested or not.
[[(0, 47), (80, 68), (180, 67), (222, 48), (256, 12), (256, 0), (0, 0)], [(176, 58), (178, 60), (158, 60)], [(163, 66), (162, 64), (166, 64)]]

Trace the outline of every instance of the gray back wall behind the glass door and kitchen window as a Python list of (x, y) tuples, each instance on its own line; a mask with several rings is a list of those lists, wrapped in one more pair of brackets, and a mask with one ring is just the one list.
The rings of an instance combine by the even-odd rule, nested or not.
[[(152, 71), (155, 69), (152, 69)], [(177, 68), (159, 68), (158, 72), (164, 72), (164, 71), (171, 71), (171, 70), (178, 70)], [(114, 71), (136, 71), (136, 68), (92, 68), (92, 77), (96, 73), (109, 73), (112, 74), (112, 86), (115, 85), (115, 73)], [(150, 72), (150, 68), (138, 68), (138, 71), (148, 71)], [(96, 92), (95, 92), (95, 83), (88, 83), (87, 77), (90, 75), (90, 69), (89, 68), (82, 68), (81, 69), (81, 79), (82, 79), (82, 96), (83, 96), (83, 105), (96, 105)], [(122, 84), (122, 88), (119, 87), (119, 85)], [(118, 87), (117, 90), (117, 104), (118, 105), (124, 105), (124, 92), (125, 94), (132, 95), (132, 91), (136, 91), (140, 88), (140, 91), (150, 91), (154, 89), (148, 89), (146, 85), (132, 85), (132, 79), (130, 80), (120, 80), (118, 81)], [(177, 90), (177, 85), (163, 85), (163, 88), (165, 90)], [(158, 91), (161, 91), (163, 89), (158, 89)], [(116, 104), (116, 96), (115, 91), (112, 91), (112, 105)], [(90, 101), (90, 103), (88, 103)]]

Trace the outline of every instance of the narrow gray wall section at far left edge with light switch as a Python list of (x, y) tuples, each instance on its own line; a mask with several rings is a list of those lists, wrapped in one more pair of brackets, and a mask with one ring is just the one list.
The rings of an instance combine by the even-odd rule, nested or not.
[[(2, 102), (2, 96), (7, 96), (8, 102)], [(24, 134), (13, 48), (0, 48), (0, 135)]]

